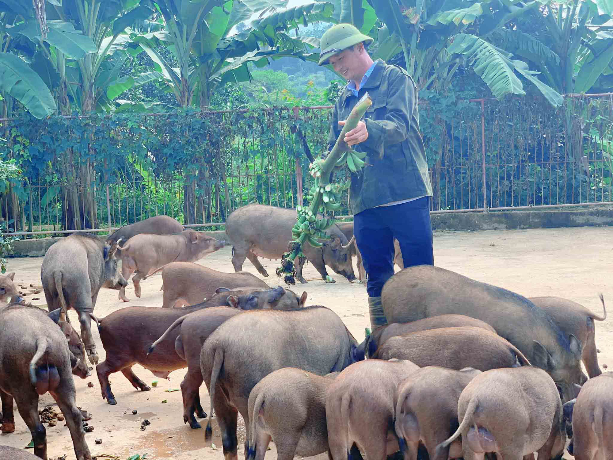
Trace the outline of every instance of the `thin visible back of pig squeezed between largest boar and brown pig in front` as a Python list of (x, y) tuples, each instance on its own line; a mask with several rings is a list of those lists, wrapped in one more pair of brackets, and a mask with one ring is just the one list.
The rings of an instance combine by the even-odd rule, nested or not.
[(429, 329), (456, 328), (460, 326), (473, 326), (474, 328), (487, 329), (487, 331), (496, 333), (489, 324), (475, 318), (470, 318), (470, 316), (439, 315), (432, 316), (432, 318), (424, 318), (423, 320), (411, 321), (410, 323), (392, 323), (376, 328), (366, 337), (364, 342), (360, 343), (360, 348), (365, 351), (366, 356), (370, 357), (375, 354), (379, 345), (390, 337), (406, 335), (417, 331), (428, 331)]

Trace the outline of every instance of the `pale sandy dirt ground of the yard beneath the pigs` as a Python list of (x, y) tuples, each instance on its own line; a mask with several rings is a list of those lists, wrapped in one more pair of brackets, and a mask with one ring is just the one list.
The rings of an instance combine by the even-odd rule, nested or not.
[[(476, 280), (492, 283), (527, 297), (560, 296), (585, 305), (600, 314), (602, 312), (598, 292), (603, 292), (605, 301), (611, 301), (613, 293), (609, 289), (613, 275), (611, 264), (612, 247), (611, 228), (568, 228), (568, 229), (533, 229), (514, 231), (482, 232), (444, 232), (436, 234), (434, 240), (435, 264)], [(199, 261), (216, 270), (232, 272), (230, 263), (231, 248), (227, 247), (208, 255)], [(277, 261), (262, 261), (268, 273), (273, 274)], [(29, 286), (32, 283), (40, 287), (40, 264), (42, 258), (9, 259), (9, 271), (17, 272), (15, 283)], [(355, 263), (355, 262), (354, 262)], [(256, 269), (245, 262), (245, 270), (260, 276)], [(300, 294), (308, 292), (307, 304), (320, 304), (330, 307), (343, 318), (349, 330), (357, 340), (364, 339), (364, 328), (369, 326), (367, 294), (364, 285), (348, 283), (345, 278), (335, 276), (337, 283), (326, 284), (310, 264), (305, 267), (307, 285), (295, 286)], [(357, 274), (357, 270), (356, 270)], [(281, 284), (275, 277), (264, 278), (270, 286)], [(130, 283), (126, 293), (131, 302), (124, 303), (117, 299), (118, 291), (102, 289), (98, 296), (94, 313), (103, 317), (115, 310), (131, 305), (162, 305), (162, 284), (160, 275), (154, 275), (142, 282), (143, 296), (134, 296), (134, 285)], [(29, 290), (31, 288), (28, 287)], [(32, 301), (32, 297), (39, 297)], [(43, 293), (29, 295), (28, 301), (36, 305), (45, 305)], [(611, 305), (609, 303), (609, 305)], [(611, 307), (609, 307), (611, 308)], [(613, 310), (612, 310), (613, 311)], [(70, 313), (73, 324), (77, 323), (74, 312)], [(601, 367), (613, 365), (613, 315), (603, 323), (596, 325), (596, 345), (602, 351), (598, 355)], [(105, 358), (104, 348), (95, 327), (92, 332), (96, 339), (101, 361)], [(134, 331), (135, 334), (138, 331)], [(193, 459), (221, 460), (221, 439), (219, 431), (213, 431), (213, 446), (205, 445), (204, 429), (192, 430), (183, 424), (181, 392), (167, 393), (168, 389), (180, 387), (185, 374), (177, 370), (170, 374), (169, 380), (156, 378), (148, 370), (134, 366), (135, 374), (145, 382), (158, 380), (158, 386), (147, 393), (132, 388), (121, 373), (111, 376), (113, 393), (118, 404), (107, 404), (102, 400), (96, 371), (91, 377), (82, 380), (75, 378), (77, 386), (77, 405), (93, 414), (89, 424), (94, 431), (86, 434), (91, 453), (100, 455), (113, 454), (121, 459), (132, 454), (148, 453), (148, 459)], [(88, 382), (93, 388), (88, 388)], [(207, 388), (200, 388), (202, 405), (209, 411), (210, 401)], [(167, 400), (162, 404), (162, 400)], [(53, 404), (50, 395), (40, 398), (40, 407)], [(138, 411), (132, 415), (132, 410)], [(23, 448), (31, 440), (28, 428), (15, 411), (15, 432), (0, 435), (0, 444)], [(240, 416), (239, 416), (240, 417)], [(148, 419), (150, 426), (140, 431), (141, 421)], [(239, 419), (239, 423), (242, 420)], [(204, 423), (203, 423), (204, 426)], [(245, 427), (239, 426), (238, 456), (243, 458)], [(67, 454), (67, 459), (75, 458), (72, 442), (67, 427), (58, 423), (47, 427), (48, 456), (55, 459)], [(101, 438), (97, 445), (94, 439)], [(267, 453), (267, 458), (276, 458), (274, 444)], [(568, 457), (568, 454), (565, 455)], [(318, 456), (327, 459), (326, 454)], [(318, 460), (319, 460), (318, 459)]]

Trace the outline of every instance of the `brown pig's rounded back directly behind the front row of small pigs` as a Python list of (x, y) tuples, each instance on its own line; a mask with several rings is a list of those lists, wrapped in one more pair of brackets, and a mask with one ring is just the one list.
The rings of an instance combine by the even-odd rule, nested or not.
[(521, 351), (493, 332), (463, 326), (397, 335), (373, 355), (378, 359), (409, 359), (419, 367), (440, 366), (460, 370), (529, 366)]

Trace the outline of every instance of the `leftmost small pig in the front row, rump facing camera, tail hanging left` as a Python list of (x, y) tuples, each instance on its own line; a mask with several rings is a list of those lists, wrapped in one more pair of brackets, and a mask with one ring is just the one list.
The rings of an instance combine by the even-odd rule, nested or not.
[(262, 378), (249, 393), (247, 460), (263, 460), (270, 440), (278, 460), (329, 450), (326, 393), (335, 376), (284, 367)]

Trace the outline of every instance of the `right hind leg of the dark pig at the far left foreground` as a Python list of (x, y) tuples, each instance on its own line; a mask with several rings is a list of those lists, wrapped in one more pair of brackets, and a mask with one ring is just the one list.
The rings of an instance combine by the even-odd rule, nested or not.
[(64, 414), (77, 460), (91, 460), (91, 453), (89, 453), (89, 448), (85, 442), (83, 416), (77, 404), (75, 404), (75, 385), (72, 375), (68, 374), (66, 369), (62, 369), (61, 373), (63, 375), (61, 375), (59, 386), (55, 391), (50, 392), (51, 396), (58, 403), (59, 410)]

